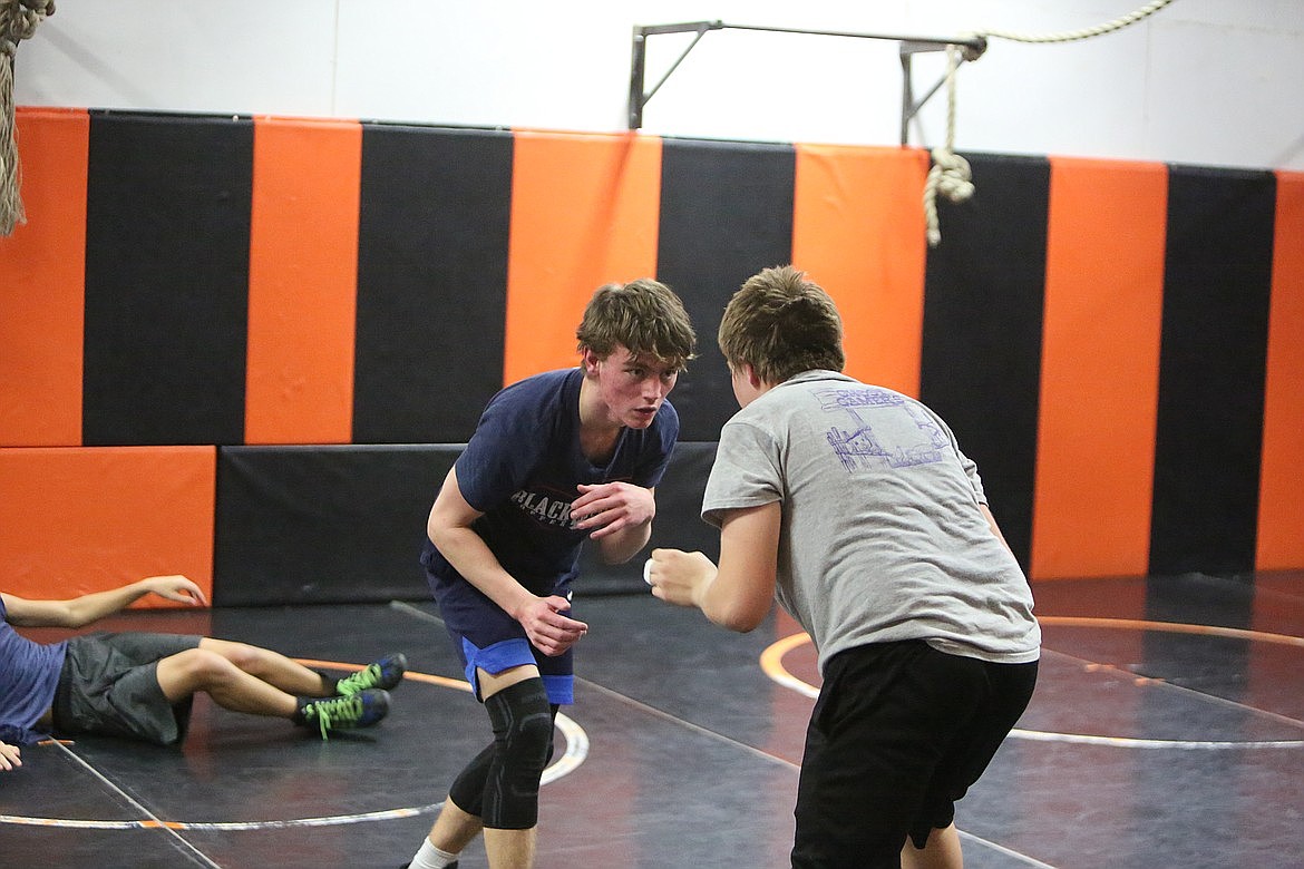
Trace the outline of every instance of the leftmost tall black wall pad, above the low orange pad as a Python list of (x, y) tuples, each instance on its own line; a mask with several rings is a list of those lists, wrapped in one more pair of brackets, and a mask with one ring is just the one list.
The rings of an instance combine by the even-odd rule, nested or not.
[(82, 442), (243, 443), (253, 124), (93, 112)]

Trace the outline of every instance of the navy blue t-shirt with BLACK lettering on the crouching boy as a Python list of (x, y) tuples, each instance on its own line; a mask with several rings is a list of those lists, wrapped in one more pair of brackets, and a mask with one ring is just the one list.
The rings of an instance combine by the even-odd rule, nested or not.
[[(612, 460), (597, 466), (579, 444), (583, 369), (536, 374), (496, 395), (455, 464), (462, 495), (482, 512), (472, 526), (503, 569), (533, 594), (570, 591), (588, 532), (576, 530), (570, 506), (579, 483), (661, 481), (679, 435), (679, 416), (661, 404), (647, 429), (623, 429)], [(426, 541), (421, 552), (442, 608), (485, 598)]]

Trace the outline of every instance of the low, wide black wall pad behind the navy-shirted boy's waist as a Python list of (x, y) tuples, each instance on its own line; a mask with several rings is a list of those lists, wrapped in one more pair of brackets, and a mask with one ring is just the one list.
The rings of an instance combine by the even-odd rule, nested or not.
[[(218, 451), (215, 606), (426, 599), (417, 563), (430, 504), (463, 444)], [(719, 556), (702, 521), (715, 443), (679, 443), (657, 487), (652, 545)], [(579, 594), (645, 591), (639, 555), (585, 546)]]

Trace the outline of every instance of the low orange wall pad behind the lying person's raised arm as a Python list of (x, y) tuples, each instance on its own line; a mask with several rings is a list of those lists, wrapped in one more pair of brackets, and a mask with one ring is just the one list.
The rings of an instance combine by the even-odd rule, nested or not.
[(70, 598), (183, 573), (211, 599), (215, 474), (215, 447), (0, 449), (0, 588)]

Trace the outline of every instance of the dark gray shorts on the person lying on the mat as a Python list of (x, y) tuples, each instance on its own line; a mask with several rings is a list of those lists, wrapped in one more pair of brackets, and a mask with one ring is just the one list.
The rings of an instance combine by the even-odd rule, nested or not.
[(171, 704), (158, 662), (200, 645), (177, 633), (93, 633), (68, 641), (55, 693), (56, 736), (107, 734), (159, 745), (185, 737), (192, 697)]

